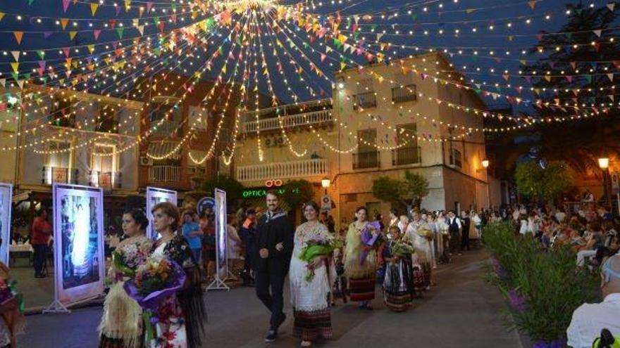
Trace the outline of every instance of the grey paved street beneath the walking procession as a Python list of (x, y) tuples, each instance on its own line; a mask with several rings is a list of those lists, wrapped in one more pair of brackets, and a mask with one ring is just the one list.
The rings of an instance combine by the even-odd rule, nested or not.
[[(482, 280), (485, 254), (478, 250), (457, 257), (438, 270), (438, 287), (416, 301), (411, 310), (397, 314), (383, 307), (380, 298), (374, 311), (361, 311), (354, 304), (333, 310), (335, 338), (319, 347), (502, 347), (521, 348), (516, 333), (507, 332), (498, 311), (504, 306), (500, 294)], [(377, 288), (379, 294), (379, 288)], [(280, 339), (265, 344), (266, 309), (250, 288), (209, 292), (209, 323), (203, 347), (297, 347), (292, 337), (292, 309)], [(27, 317), (27, 335), (20, 347), (97, 347), (100, 307), (77, 309), (68, 315)]]

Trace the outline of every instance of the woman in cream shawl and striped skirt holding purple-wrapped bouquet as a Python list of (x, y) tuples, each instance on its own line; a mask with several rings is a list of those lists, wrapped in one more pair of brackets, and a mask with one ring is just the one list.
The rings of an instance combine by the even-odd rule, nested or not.
[[(366, 207), (357, 208), (355, 212), (357, 219), (349, 225), (345, 245), (345, 275), (349, 280), (351, 300), (360, 302), (361, 309), (372, 309), (371, 301), (375, 298), (377, 276), (377, 253), (374, 247), (368, 247), (362, 242), (362, 235), (370, 228), (366, 214)], [(376, 236), (378, 231), (373, 229), (371, 233)]]

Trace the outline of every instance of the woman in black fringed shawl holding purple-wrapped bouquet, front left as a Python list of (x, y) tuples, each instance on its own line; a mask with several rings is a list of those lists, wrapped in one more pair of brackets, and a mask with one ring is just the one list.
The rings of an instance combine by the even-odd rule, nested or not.
[(190, 246), (181, 234), (175, 233), (179, 210), (171, 202), (160, 202), (151, 212), (154, 229), (161, 238), (153, 245), (149, 267), (140, 273), (145, 276), (137, 278), (141, 295), (149, 292), (145, 291), (149, 285), (154, 290), (143, 302), (151, 307), (150, 323), (155, 327), (147, 344), (152, 348), (201, 347), (206, 311), (200, 271)]

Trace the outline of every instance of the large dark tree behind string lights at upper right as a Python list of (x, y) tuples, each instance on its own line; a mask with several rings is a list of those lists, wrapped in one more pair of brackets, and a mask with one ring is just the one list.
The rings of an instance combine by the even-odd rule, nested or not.
[(580, 174), (597, 173), (597, 157), (620, 153), (616, 141), (620, 127), (612, 122), (620, 113), (607, 108), (617, 99), (614, 72), (620, 44), (614, 37), (618, 13), (607, 6), (581, 3), (566, 9), (567, 22), (558, 31), (563, 34), (540, 32), (538, 44), (529, 52), (537, 58), (521, 65), (521, 75), (533, 86), (535, 118), (539, 119), (533, 121), (557, 117), (568, 121), (536, 122), (528, 132), (538, 140), (521, 152), (537, 147), (540, 158), (562, 160)]

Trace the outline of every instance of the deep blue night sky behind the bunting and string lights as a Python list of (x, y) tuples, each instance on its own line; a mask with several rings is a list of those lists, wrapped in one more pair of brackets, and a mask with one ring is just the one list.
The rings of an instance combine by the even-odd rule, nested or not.
[[(77, 4), (73, 4), (73, 1), (68, 6), (68, 11), (63, 11), (63, 0), (32, 0), (32, 4), (28, 5), (29, 0), (4, 0), (0, 1), (0, 12), (6, 13), (4, 19), (0, 22), (0, 42), (1, 49), (6, 51), (7, 54), (1, 57), (0, 71), (4, 77), (11, 79), (12, 67), (10, 63), (15, 63), (11, 51), (27, 51), (26, 56), (21, 53), (20, 56), (20, 73), (32, 70), (32, 68), (39, 67), (39, 61), (42, 60), (37, 56), (36, 51), (41, 49), (54, 49), (49, 51), (44, 56), (46, 61), (46, 67), (54, 65), (63, 70), (62, 65), (66, 61), (66, 52), (63, 52), (64, 48), (72, 48), (75, 46), (80, 49), (79, 53), (70, 51), (69, 56), (76, 59), (92, 58), (94, 60), (101, 59), (102, 53), (113, 52), (113, 48), (108, 50), (99, 48), (90, 54), (86, 45), (88, 44), (103, 44), (109, 42), (110, 46), (113, 43), (120, 40), (120, 34), (123, 35), (125, 44), (131, 44), (133, 37), (137, 37), (137, 31), (132, 28), (132, 21), (130, 18), (137, 18), (137, 7), (147, 6), (147, 1), (132, 1), (132, 8), (128, 13), (125, 13), (124, 8), (120, 8), (120, 11), (116, 11), (111, 4), (114, 1), (106, 0), (103, 6), (97, 8), (97, 13), (93, 17), (91, 14), (90, 0), (89, 1), (77, 1)], [(116, 1), (119, 7), (123, 6), (123, 1)], [(170, 8), (171, 1), (153, 1), (153, 7), (156, 8), (156, 14), (160, 19), (169, 18), (168, 14), (162, 13), (161, 8)], [(310, 4), (308, 2), (308, 4)], [(316, 1), (318, 4), (318, 1)], [(388, 4), (389, 7), (385, 7)], [(588, 4), (590, 4), (588, 2)], [(606, 2), (596, 1), (597, 6), (605, 6)], [(180, 5), (178, 5), (180, 6)], [(534, 8), (532, 8), (532, 6)], [(426, 11), (424, 11), (426, 8)], [(566, 20), (566, 7), (562, 1), (557, 0), (540, 0), (536, 1), (521, 1), (521, 0), (504, 0), (504, 1), (488, 1), (488, 0), (459, 0), (454, 3), (454, 0), (445, 1), (343, 1), (343, 4), (335, 4), (330, 6), (322, 6), (317, 8), (316, 13), (325, 15), (327, 13), (335, 13), (340, 11), (340, 15), (346, 17), (347, 15), (364, 15), (364, 13), (373, 12), (375, 18), (380, 15), (385, 15), (385, 20), (373, 20), (372, 22), (365, 22), (359, 20), (359, 30), (361, 34), (359, 37), (365, 37), (365, 44), (369, 49), (378, 51), (376, 41), (378, 39), (377, 34), (386, 30), (383, 37), (380, 38), (381, 42), (398, 45), (406, 45), (407, 49), (399, 49), (396, 56), (407, 56), (413, 53), (423, 53), (429, 49), (435, 50), (447, 50), (450, 54), (451, 60), (454, 62), (455, 67), (461, 72), (467, 73), (469, 80), (474, 79), (476, 83), (490, 84), (491, 86), (484, 87), (492, 91), (500, 91), (492, 86), (492, 84), (499, 83), (503, 88), (502, 94), (508, 94), (510, 96), (521, 96), (523, 98), (532, 98), (531, 94), (524, 92), (523, 94), (517, 94), (514, 86), (528, 87), (522, 78), (516, 76), (516, 72), (519, 70), (519, 60), (528, 59), (533, 60), (540, 58), (540, 55), (522, 55), (521, 51), (528, 50), (532, 46), (535, 46), (538, 41), (536, 34), (541, 31), (555, 32), (562, 27), (562, 24)], [(411, 13), (408, 13), (411, 11)], [(398, 12), (398, 16), (395, 17), (394, 13)], [(21, 20), (18, 20), (18, 15), (22, 15)], [(547, 16), (550, 16), (547, 19)], [(144, 13), (140, 24), (143, 22), (150, 22), (144, 30), (144, 37), (151, 35), (155, 37), (156, 28), (153, 25), (155, 14)], [(179, 15), (182, 17), (182, 15)], [(187, 15), (185, 16), (187, 17)], [(61, 25), (57, 25), (58, 18), (68, 18), (68, 24), (65, 30)], [(204, 17), (199, 17), (204, 18)], [(39, 23), (39, 20), (41, 21)], [(530, 23), (527, 24), (526, 21)], [(111, 22), (116, 21), (116, 22)], [(75, 22), (75, 25), (74, 25)], [(166, 23), (166, 32), (169, 32), (173, 27), (182, 27), (187, 25), (190, 19), (187, 18), (185, 22), (182, 22), (179, 18), (177, 24)], [(346, 22), (346, 20), (344, 21)], [(92, 27), (89, 27), (89, 23), (92, 23)], [(108, 24), (108, 27), (103, 27), (104, 23)], [(115, 25), (115, 29), (111, 29), (111, 24)], [(123, 23), (125, 29), (122, 33), (119, 33), (120, 23)], [(493, 30), (490, 30), (490, 27)], [(103, 29), (99, 38), (94, 39), (93, 30), (100, 27)], [(293, 30), (294, 25), (289, 25)], [(374, 29), (372, 33), (371, 30)], [(474, 29), (476, 30), (474, 32)], [(398, 35), (395, 35), (395, 31), (399, 30)], [(457, 30), (459, 31), (457, 34)], [(14, 37), (15, 31), (23, 31), (23, 39), (21, 44), (17, 44)], [(75, 38), (70, 40), (69, 32), (76, 31)], [(442, 33), (440, 33), (442, 31)], [(267, 32), (267, 30), (265, 30)], [(298, 44), (302, 46), (304, 38), (307, 39), (303, 30), (295, 31), (299, 34)], [(412, 32), (410, 34), (409, 32)], [(428, 34), (425, 34), (428, 32)], [(220, 36), (225, 36), (225, 29), (217, 30), (213, 33)], [(314, 47), (317, 50), (317, 43), (321, 40), (317, 40), (314, 44), (306, 46), (306, 54), (314, 61), (318, 67), (325, 72), (328, 77), (333, 77), (333, 71), (338, 66), (337, 56), (335, 59), (325, 59), (322, 63), (316, 54), (309, 51), (309, 47)], [(267, 46), (267, 40), (263, 43)], [(156, 46), (156, 44), (154, 44)], [(154, 47), (153, 46), (153, 47)], [(416, 51), (414, 47), (418, 47)], [(390, 50), (388, 56), (394, 56)], [(459, 52), (460, 51), (460, 52)], [(506, 52), (509, 52), (509, 55)], [(224, 52), (225, 49), (224, 49)], [(475, 54), (477, 52), (477, 55)], [(299, 64), (307, 66), (307, 63), (302, 60), (299, 53), (292, 53), (295, 60), (299, 61)], [(267, 55), (269, 60), (270, 72), (275, 72), (277, 68), (273, 59)], [(350, 56), (356, 62), (364, 63), (363, 58)], [(185, 68), (185, 75), (190, 75), (196, 70), (197, 65), (189, 66), (186, 61), (182, 61), (184, 57), (175, 57), (174, 63), (180, 64), (181, 68)], [(220, 58), (222, 59), (222, 58)], [(220, 67), (221, 60), (214, 62), (213, 67)], [(292, 69), (287, 65), (287, 74), (294, 74)], [(491, 69), (494, 69), (491, 71)], [(508, 71), (508, 81), (504, 75), (504, 70)], [(178, 70), (183, 73), (182, 70)], [(188, 73), (189, 72), (189, 73)], [(219, 72), (219, 71), (216, 71)], [(32, 73), (32, 77), (36, 77), (36, 73)], [(216, 75), (207, 75), (205, 78), (213, 79)], [(230, 76), (230, 72), (227, 76)], [(314, 77), (314, 78), (312, 78)], [(241, 80), (240, 77), (236, 78), (237, 81)], [(281, 100), (287, 102), (290, 98), (287, 98), (288, 92), (284, 84), (278, 82), (278, 79), (273, 79), (275, 94), (282, 96)], [(316, 78), (315, 75), (310, 75), (306, 78), (306, 81), (310, 81), (309, 84), (313, 86), (315, 91), (322, 89), (325, 91), (325, 96), (330, 92), (330, 84), (325, 79)], [(510, 84), (510, 86), (507, 86)], [(312, 97), (302, 87), (299, 82), (292, 84), (295, 92), (299, 94), (302, 99), (311, 99)], [(102, 88), (103, 89), (103, 88)], [(268, 87), (265, 79), (261, 79), (259, 82), (259, 89), (266, 93)], [(491, 98), (485, 100), (490, 107), (507, 105), (504, 102), (493, 101)]]

